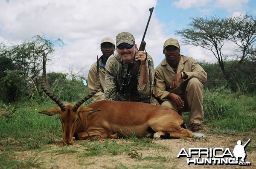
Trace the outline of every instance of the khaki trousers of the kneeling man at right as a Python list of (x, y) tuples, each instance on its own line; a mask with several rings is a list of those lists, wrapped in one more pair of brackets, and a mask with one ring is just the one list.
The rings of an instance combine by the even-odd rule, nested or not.
[(177, 109), (176, 105), (171, 100), (163, 101), (161, 106), (169, 107), (178, 113), (189, 111), (190, 124), (203, 124), (203, 87), (204, 85), (197, 78), (192, 78), (188, 81), (186, 90), (180, 96), (180, 98), (184, 101), (183, 109)]

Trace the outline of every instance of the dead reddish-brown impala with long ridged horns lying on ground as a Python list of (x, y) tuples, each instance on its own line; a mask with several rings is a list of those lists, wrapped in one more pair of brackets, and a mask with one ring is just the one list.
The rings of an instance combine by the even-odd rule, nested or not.
[(38, 113), (59, 114), (62, 124), (63, 142), (73, 144), (73, 137), (79, 140), (98, 136), (100, 138), (119, 138), (135, 135), (140, 137), (191, 138), (195, 136), (187, 130), (184, 119), (175, 110), (140, 102), (96, 101), (87, 107), (80, 107), (99, 89), (99, 66), (96, 87), (75, 105), (64, 105), (46, 86), (45, 57), (41, 87), (58, 104)]

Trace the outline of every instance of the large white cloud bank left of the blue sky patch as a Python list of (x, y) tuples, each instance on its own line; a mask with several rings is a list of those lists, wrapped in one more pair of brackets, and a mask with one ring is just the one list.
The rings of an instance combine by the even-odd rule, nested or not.
[[(1, 0), (0, 39), (22, 42), (42, 34), (59, 37), (65, 45), (57, 48), (56, 62), (47, 69), (68, 72), (72, 65), (88, 70), (96, 56), (102, 55), (99, 43), (103, 37), (115, 39), (116, 34), (129, 31), (139, 46), (150, 14), (148, 9), (156, 3), (157, 0)], [(160, 44), (150, 39), (164, 36), (161, 26), (153, 12), (145, 36), (146, 49), (152, 51), (152, 56), (157, 56), (153, 49)]]

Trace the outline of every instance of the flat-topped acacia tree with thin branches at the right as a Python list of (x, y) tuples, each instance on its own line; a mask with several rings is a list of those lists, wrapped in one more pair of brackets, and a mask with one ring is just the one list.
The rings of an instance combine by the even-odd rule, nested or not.
[[(189, 28), (175, 33), (183, 37), (183, 42), (195, 45), (212, 52), (218, 60), (224, 79), (235, 84), (240, 90), (236, 72), (241, 70), (245, 59), (255, 59), (256, 19), (250, 15), (228, 18), (191, 18)], [(229, 42), (234, 46), (234, 54), (224, 54), (222, 48)], [(226, 65), (227, 58), (238, 60), (232, 68)], [(227, 68), (229, 68), (227, 70)], [(252, 78), (253, 79), (253, 78)]]

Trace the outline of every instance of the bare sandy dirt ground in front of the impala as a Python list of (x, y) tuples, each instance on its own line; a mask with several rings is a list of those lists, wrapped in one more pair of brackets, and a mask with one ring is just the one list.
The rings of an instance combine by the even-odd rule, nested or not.
[[(254, 137), (255, 138), (255, 137)], [(166, 147), (166, 149), (145, 149), (137, 151), (136, 153), (141, 155), (141, 158), (148, 156), (161, 156), (164, 157), (165, 161), (154, 161), (154, 160), (138, 160), (137, 158), (131, 158), (131, 155), (122, 153), (119, 155), (98, 155), (91, 157), (82, 157), (81, 154), (84, 152), (86, 147), (79, 144), (82, 141), (75, 141), (75, 144), (71, 145), (70, 148), (77, 148), (76, 153), (52, 153), (53, 150), (64, 148), (61, 144), (61, 140), (56, 144), (46, 145), (46, 150), (25, 151), (15, 152), (13, 156), (19, 160), (26, 160), (36, 155), (37, 158), (42, 162), (39, 167), (35, 168), (47, 168), (47, 169), (188, 169), (188, 168), (256, 168), (256, 141), (251, 139), (248, 146), (246, 146), (247, 158), (246, 162), (250, 162), (250, 166), (239, 166), (239, 165), (195, 165), (186, 163), (187, 158), (177, 158), (182, 148), (189, 150), (189, 148), (223, 148), (230, 149), (233, 152), (234, 147), (237, 145), (237, 141), (241, 140), (242, 144), (251, 139), (250, 135), (206, 135), (205, 138), (189, 138), (189, 139), (168, 139), (153, 141), (154, 144), (159, 144)], [(116, 142), (122, 143), (124, 139), (117, 139)], [(102, 141), (103, 142), (103, 141)], [(197, 156), (198, 157), (198, 156)], [(197, 158), (193, 156), (193, 158)], [(241, 160), (240, 160), (241, 161)]]

